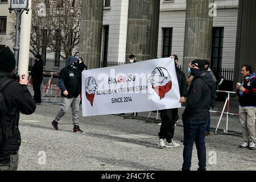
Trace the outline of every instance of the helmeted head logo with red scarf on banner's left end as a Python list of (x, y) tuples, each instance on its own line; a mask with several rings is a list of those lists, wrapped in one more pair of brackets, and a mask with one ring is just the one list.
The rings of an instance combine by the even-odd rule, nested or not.
[(93, 100), (97, 89), (98, 85), (96, 84), (95, 78), (88, 77), (85, 81), (85, 95), (91, 106), (93, 106)]

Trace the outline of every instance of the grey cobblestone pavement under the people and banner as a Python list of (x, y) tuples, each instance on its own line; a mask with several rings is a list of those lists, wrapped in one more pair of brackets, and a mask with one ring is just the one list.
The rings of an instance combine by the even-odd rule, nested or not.
[[(59, 130), (51, 122), (59, 105), (43, 102), (32, 115), (20, 114), (22, 145), (18, 170), (180, 170), (183, 163), (183, 127), (177, 126), (174, 140), (177, 148), (158, 148), (160, 125), (140, 119), (123, 119), (117, 115), (82, 117), (81, 134), (72, 133), (72, 114), (59, 122)], [(146, 113), (147, 114), (147, 113)], [(140, 113), (139, 113), (140, 115)], [(213, 123), (218, 116), (213, 115)], [(237, 118), (231, 118), (234, 129), (241, 131)], [(214, 123), (215, 125), (215, 123)], [(242, 138), (214, 135), (206, 138), (208, 170), (256, 170), (256, 151), (238, 148)], [(215, 158), (216, 156), (216, 158)], [(46, 159), (46, 160), (44, 160)], [(192, 170), (197, 169), (196, 148)]]

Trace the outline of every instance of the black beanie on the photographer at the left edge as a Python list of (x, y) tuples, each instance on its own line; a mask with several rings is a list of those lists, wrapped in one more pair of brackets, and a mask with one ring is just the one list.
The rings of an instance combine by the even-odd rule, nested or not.
[(2, 49), (0, 52), (0, 71), (11, 72), (15, 69), (15, 57), (9, 47)]

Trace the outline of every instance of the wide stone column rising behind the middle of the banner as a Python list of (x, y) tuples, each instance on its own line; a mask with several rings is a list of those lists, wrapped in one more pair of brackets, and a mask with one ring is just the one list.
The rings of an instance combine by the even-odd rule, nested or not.
[(129, 0), (126, 63), (130, 54), (138, 61), (156, 58), (159, 10), (160, 0)]

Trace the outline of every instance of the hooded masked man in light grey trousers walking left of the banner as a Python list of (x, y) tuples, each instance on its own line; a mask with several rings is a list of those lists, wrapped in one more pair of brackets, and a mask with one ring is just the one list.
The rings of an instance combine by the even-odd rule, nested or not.
[(81, 93), (81, 72), (77, 69), (79, 61), (77, 57), (70, 56), (68, 59), (67, 67), (60, 71), (59, 86), (61, 89), (61, 96), (63, 97), (63, 103), (60, 106), (60, 110), (57, 113), (55, 119), (52, 121), (53, 130), (58, 130), (58, 122), (67, 113), (69, 106), (72, 109), (73, 118), (73, 132), (82, 133), (79, 127), (79, 104)]

